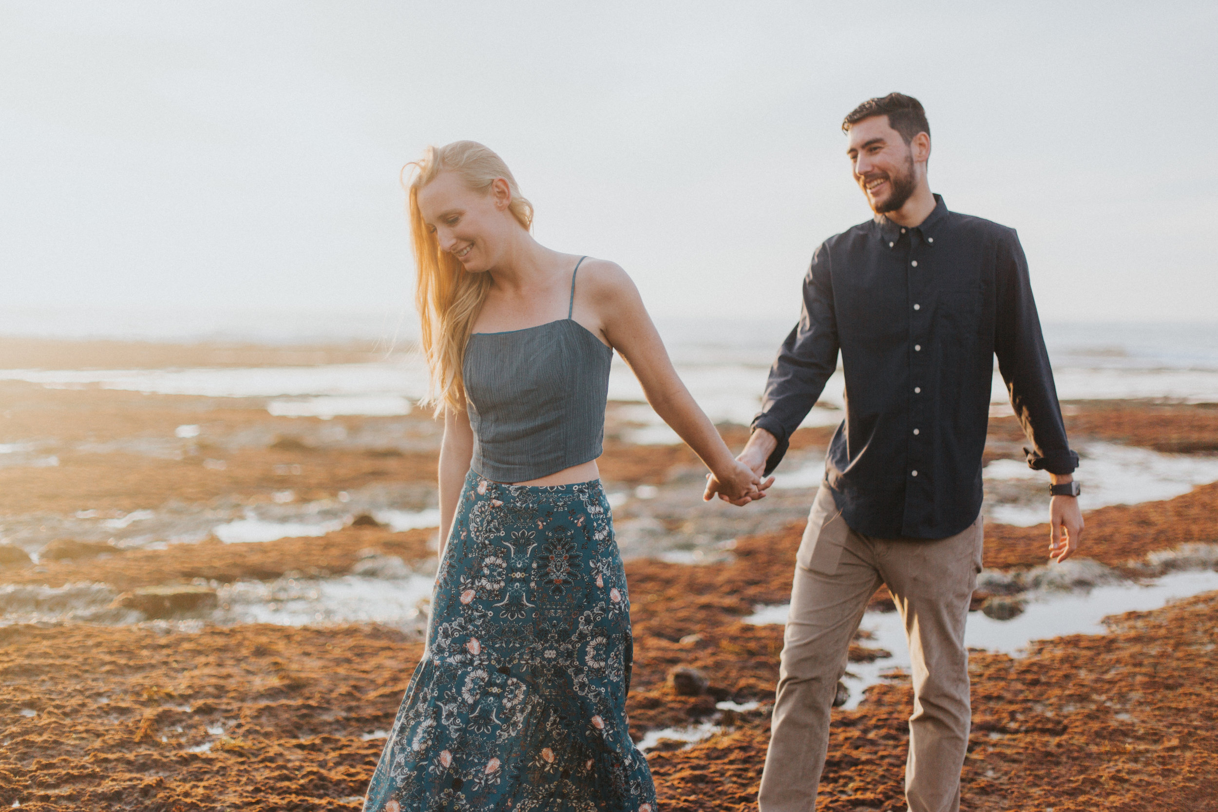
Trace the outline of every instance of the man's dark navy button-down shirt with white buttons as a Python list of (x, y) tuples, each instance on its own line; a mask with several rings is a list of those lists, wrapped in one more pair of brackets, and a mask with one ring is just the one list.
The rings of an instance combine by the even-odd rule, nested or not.
[(995, 354), (1032, 443), (1028, 464), (1054, 474), (1078, 465), (1015, 230), (934, 197), (918, 226), (877, 215), (816, 250), (803, 314), (753, 421), (778, 439), (772, 470), (840, 351), (845, 421), (826, 482), (865, 536), (944, 538), (977, 519)]

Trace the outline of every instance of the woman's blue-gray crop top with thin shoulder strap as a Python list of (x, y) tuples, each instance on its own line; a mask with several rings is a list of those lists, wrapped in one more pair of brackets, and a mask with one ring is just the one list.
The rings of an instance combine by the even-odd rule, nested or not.
[(474, 429), (470, 467), (527, 482), (600, 457), (613, 349), (566, 318), (524, 330), (475, 332), (462, 375)]

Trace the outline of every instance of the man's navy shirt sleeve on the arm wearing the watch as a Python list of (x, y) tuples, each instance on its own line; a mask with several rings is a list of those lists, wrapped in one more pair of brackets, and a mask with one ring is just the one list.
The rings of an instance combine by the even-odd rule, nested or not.
[(1013, 229), (999, 241), (998, 251), (994, 352), (1015, 416), (1032, 442), (1032, 448), (1023, 450), (1033, 469), (1071, 474), (1078, 467), (1078, 454), (1066, 439), (1054, 370), (1032, 297), (1028, 261)]

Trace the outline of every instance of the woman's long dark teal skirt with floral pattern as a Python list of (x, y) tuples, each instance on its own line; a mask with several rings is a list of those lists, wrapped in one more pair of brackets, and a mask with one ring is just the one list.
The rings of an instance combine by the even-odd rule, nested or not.
[(626, 573), (599, 481), (473, 471), (365, 812), (653, 812), (627, 734)]

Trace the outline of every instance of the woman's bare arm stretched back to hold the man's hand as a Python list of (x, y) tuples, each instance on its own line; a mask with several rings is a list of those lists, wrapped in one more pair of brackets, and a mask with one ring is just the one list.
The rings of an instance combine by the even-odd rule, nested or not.
[[(747, 465), (732, 457), (714, 424), (681, 382), (626, 271), (611, 262), (596, 262), (590, 270), (586, 295), (580, 298), (596, 310), (602, 335), (638, 377), (655, 414), (706, 464), (716, 491), (737, 504), (765, 495), (769, 485), (762, 485)], [(714, 492), (708, 493), (705, 498), (710, 499)]]

